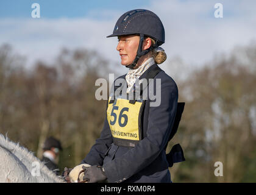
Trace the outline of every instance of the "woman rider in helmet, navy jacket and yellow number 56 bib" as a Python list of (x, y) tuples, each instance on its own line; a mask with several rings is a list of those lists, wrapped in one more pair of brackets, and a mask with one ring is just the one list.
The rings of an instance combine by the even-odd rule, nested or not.
[[(116, 50), (121, 64), (129, 71), (113, 84), (101, 137), (82, 160), (91, 165), (86, 168), (84, 179), (89, 182), (105, 179), (108, 182), (171, 182), (168, 167), (185, 159), (182, 155), (174, 160), (165, 152), (177, 130), (174, 121), (178, 89), (174, 80), (157, 66), (166, 59), (164, 50), (158, 47), (165, 43), (163, 24), (149, 10), (131, 10), (118, 19), (113, 34), (108, 37), (118, 37)], [(116, 84), (120, 79), (123, 85)], [(140, 88), (137, 96), (136, 89), (141, 87), (137, 85), (138, 80), (143, 79), (149, 83), (146, 82), (148, 85), (143, 91)], [(150, 80), (154, 84), (150, 85)], [(122, 92), (116, 93), (118, 89)], [(150, 99), (152, 91), (157, 91), (156, 99)], [(142, 93), (148, 94), (148, 99), (140, 99)], [(127, 94), (133, 96), (127, 98)], [(157, 105), (153, 105), (154, 102)], [(180, 146), (172, 150), (172, 154), (174, 152), (183, 154)]]

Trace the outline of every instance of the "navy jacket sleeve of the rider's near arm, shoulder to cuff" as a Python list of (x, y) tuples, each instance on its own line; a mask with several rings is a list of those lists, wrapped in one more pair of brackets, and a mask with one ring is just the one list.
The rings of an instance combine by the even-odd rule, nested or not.
[(177, 110), (178, 90), (173, 80), (162, 81), (160, 98), (158, 107), (149, 108), (147, 137), (126, 154), (104, 164), (109, 182), (122, 182), (133, 176), (150, 165), (165, 148)]

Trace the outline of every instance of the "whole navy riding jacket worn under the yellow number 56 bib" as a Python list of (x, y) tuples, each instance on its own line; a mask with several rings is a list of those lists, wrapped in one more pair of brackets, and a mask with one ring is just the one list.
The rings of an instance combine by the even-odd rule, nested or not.
[[(149, 67), (140, 79), (156, 66)], [(125, 76), (119, 78), (125, 79)], [(103, 166), (108, 182), (171, 182), (165, 146), (174, 124), (178, 88), (163, 70), (155, 76), (154, 83), (155, 79), (161, 79), (160, 86), (154, 85), (154, 91), (161, 87), (161, 103), (150, 107), (152, 100), (146, 100), (141, 120), (143, 139), (135, 147), (116, 146), (106, 116), (101, 136), (81, 162)]]

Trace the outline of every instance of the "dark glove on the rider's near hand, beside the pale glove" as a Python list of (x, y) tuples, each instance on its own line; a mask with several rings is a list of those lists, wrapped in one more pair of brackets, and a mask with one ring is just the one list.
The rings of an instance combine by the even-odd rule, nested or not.
[(102, 166), (93, 165), (87, 167), (84, 174), (83, 180), (88, 180), (88, 183), (101, 182), (107, 179)]

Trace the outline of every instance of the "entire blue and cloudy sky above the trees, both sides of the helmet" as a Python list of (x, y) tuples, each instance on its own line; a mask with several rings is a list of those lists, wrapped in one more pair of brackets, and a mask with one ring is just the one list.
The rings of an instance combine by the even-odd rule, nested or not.
[[(31, 17), (34, 2), (40, 18)], [(223, 18), (214, 16), (216, 2), (223, 5)], [(255, 0), (0, 0), (0, 46), (9, 43), (29, 65), (42, 59), (54, 63), (61, 48), (93, 49), (119, 63), (117, 39), (106, 36), (119, 16), (138, 8), (152, 10), (165, 26), (168, 59), (161, 66), (167, 72), (175, 65), (180, 71), (202, 66), (256, 40)]]

